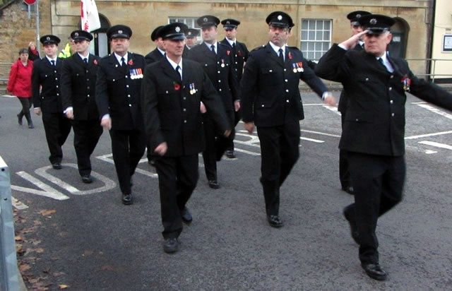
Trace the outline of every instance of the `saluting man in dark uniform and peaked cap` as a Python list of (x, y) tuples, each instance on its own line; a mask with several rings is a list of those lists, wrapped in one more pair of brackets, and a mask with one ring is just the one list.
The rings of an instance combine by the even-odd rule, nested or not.
[[(347, 150), (355, 203), (344, 210), (359, 244), (361, 266), (369, 277), (386, 280), (379, 265), (376, 224), (380, 215), (402, 200), (405, 182), (405, 92), (452, 110), (452, 95), (419, 80), (403, 59), (386, 53), (393, 18), (359, 18), (364, 32), (333, 44), (316, 66), (316, 74), (343, 83), (347, 114), (339, 148)], [(353, 47), (364, 37), (364, 51)]]

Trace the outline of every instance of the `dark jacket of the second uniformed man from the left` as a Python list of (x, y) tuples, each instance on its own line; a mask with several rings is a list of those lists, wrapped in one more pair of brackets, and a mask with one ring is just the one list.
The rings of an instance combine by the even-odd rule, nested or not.
[(78, 54), (64, 60), (61, 71), (63, 110), (73, 107), (74, 120), (99, 119), (95, 100), (97, 66), (100, 57), (90, 54), (88, 64)]

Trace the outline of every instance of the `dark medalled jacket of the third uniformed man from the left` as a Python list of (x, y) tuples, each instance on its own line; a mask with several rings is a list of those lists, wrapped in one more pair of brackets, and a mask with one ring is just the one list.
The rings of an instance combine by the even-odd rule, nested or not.
[(145, 60), (141, 54), (129, 52), (126, 68), (114, 53), (99, 61), (96, 80), (96, 103), (99, 117), (110, 114), (112, 129), (141, 129), (140, 94)]

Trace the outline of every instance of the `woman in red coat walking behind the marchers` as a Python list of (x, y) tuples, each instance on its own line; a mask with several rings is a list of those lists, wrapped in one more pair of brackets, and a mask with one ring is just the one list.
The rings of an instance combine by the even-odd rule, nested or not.
[(22, 125), (22, 118), (28, 121), (28, 128), (34, 129), (33, 121), (31, 120), (30, 107), (31, 102), (31, 72), (33, 69), (33, 62), (28, 59), (28, 49), (20, 49), (19, 59), (12, 64), (9, 72), (8, 86), (6, 90), (18, 97), (22, 110), (20, 110), (18, 117), (19, 125)]

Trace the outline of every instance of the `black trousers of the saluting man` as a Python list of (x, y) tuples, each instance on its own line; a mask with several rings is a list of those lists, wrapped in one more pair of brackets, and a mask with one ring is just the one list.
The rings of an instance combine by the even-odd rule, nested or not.
[(379, 262), (375, 230), (378, 218), (402, 200), (405, 156), (391, 157), (348, 152), (355, 203), (345, 208), (354, 215), (359, 232), (359, 260)]

